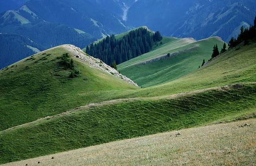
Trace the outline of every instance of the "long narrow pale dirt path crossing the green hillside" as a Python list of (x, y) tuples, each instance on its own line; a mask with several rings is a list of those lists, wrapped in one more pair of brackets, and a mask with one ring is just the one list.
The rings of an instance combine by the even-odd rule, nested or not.
[[(246, 83), (244, 83), (244, 84), (246, 84)], [(256, 82), (247, 83), (247, 84), (256, 84)], [(30, 122), (30, 123), (24, 123), (24, 124), (19, 125), (19, 126), (11, 127), (9, 129), (0, 131), (0, 134), (3, 134), (7, 131), (10, 131), (10, 130), (13, 130), (13, 129), (16, 129), (16, 128), (20, 128), (22, 126), (33, 125), (33, 124), (36, 124), (36, 123), (41, 122), (43, 120), (48, 120), (48, 119), (60, 117), (60, 116), (63, 116), (63, 115), (68, 115), (68, 114), (73, 113), (73, 112), (78, 112), (78, 111), (89, 112), (95, 107), (100, 107), (100, 106), (104, 106), (104, 105), (113, 105), (113, 104), (118, 104), (118, 103), (122, 103), (122, 102), (131, 102), (131, 101), (148, 101), (148, 100), (150, 101), (150, 100), (160, 100), (160, 99), (171, 99), (171, 98), (191, 96), (193, 94), (199, 94), (199, 93), (209, 91), (209, 90), (228, 90), (228, 89), (232, 89), (232, 88), (237, 89), (237, 88), (240, 88), (240, 87), (241, 87), (241, 84), (233, 84), (233, 85), (227, 85), (227, 86), (223, 86), (223, 87), (211, 87), (211, 88), (200, 89), (200, 90), (195, 90), (195, 91), (191, 91), (191, 92), (183, 92), (183, 93), (179, 93), (179, 94), (171, 94), (171, 95), (166, 95), (166, 96), (133, 97), (133, 98), (110, 100), (110, 101), (102, 101), (102, 102), (99, 102), (99, 103), (91, 103), (91, 104), (88, 104), (88, 105), (85, 105), (85, 106), (76, 107), (76, 108), (74, 108), (70, 111), (67, 111), (67, 112), (63, 112), (63, 113), (53, 115), (53, 116), (47, 116), (45, 118), (37, 119), (37, 120), (35, 120), (33, 122)]]

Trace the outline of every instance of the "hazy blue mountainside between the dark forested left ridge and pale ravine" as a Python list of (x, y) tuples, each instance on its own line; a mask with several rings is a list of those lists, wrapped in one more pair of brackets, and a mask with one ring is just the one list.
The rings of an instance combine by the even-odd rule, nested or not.
[(112, 0), (30, 0), (26, 6), (47, 22), (81, 29), (98, 38), (127, 30), (121, 17), (113, 14), (119, 13), (119, 7)]

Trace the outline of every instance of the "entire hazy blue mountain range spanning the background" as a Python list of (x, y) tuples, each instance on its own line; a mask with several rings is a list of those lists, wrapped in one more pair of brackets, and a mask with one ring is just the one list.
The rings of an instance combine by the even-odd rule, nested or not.
[(144, 25), (164, 36), (228, 41), (255, 15), (255, 0), (0, 0), (0, 32), (29, 38), (43, 50), (66, 43), (85, 47)]

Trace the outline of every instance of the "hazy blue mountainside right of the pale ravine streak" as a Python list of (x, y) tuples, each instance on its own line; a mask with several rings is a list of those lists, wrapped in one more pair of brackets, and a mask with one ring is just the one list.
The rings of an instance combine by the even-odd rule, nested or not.
[(252, 25), (255, 15), (255, 0), (137, 0), (126, 23), (147, 25), (165, 36), (197, 40), (220, 36), (228, 41), (241, 25)]

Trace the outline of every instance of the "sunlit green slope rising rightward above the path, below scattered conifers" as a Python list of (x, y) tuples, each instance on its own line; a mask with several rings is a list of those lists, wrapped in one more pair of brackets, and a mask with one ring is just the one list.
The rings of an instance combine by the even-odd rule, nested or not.
[(169, 83), (126, 93), (126, 97), (163, 96), (186, 91), (256, 81), (256, 42), (227, 51), (211, 63)]

